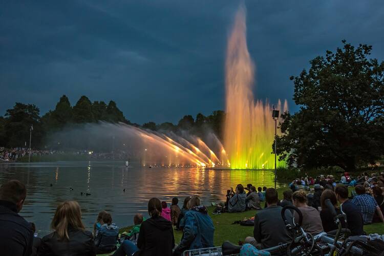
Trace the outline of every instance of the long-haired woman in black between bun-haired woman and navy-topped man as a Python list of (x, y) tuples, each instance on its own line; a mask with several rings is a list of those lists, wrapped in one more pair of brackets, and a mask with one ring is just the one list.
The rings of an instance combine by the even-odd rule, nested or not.
[[(333, 207), (336, 210), (336, 214), (339, 215), (342, 213), (340, 208), (337, 207), (336, 194), (332, 190), (329, 190), (329, 189), (325, 190), (320, 199), (321, 205), (322, 205), (322, 210), (320, 211), (320, 217), (322, 218), (323, 229), (325, 232), (329, 232), (338, 228), (333, 219), (331, 209), (329, 209), (325, 204), (325, 200), (327, 199), (331, 201)], [(346, 223), (344, 219), (341, 220), (341, 223), (342, 223), (342, 227), (345, 228)]]

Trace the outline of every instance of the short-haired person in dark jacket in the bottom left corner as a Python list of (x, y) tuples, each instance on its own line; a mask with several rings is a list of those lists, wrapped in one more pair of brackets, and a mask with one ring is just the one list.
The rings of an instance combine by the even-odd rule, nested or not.
[(27, 189), (18, 180), (10, 180), (0, 187), (0, 254), (29, 256), (32, 253), (31, 225), (18, 212), (22, 210)]

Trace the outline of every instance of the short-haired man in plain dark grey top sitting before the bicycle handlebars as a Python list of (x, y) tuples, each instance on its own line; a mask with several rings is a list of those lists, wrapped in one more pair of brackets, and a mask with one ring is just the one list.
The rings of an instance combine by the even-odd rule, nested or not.
[[(285, 227), (281, 210), (278, 206), (278, 191), (268, 188), (265, 192), (267, 208), (262, 209), (254, 216), (253, 237), (245, 239), (246, 244), (252, 244), (258, 249), (265, 249), (277, 246), (281, 243), (289, 243), (291, 237)], [(292, 220), (291, 211), (285, 211), (287, 220)]]

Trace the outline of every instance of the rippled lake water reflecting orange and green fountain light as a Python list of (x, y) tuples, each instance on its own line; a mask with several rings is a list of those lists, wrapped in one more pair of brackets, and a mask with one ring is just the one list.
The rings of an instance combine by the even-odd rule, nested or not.
[(10, 179), (26, 184), (27, 198), (20, 215), (36, 224), (39, 236), (50, 232), (57, 204), (65, 200), (80, 204), (83, 222), (92, 230), (101, 210), (111, 212), (120, 227), (132, 225), (137, 212), (147, 217), (147, 203), (153, 197), (167, 203), (178, 197), (181, 206), (186, 196), (197, 194), (209, 205), (225, 201), (226, 190), (237, 184), (273, 187), (271, 170), (148, 168), (135, 164), (138, 167), (124, 167), (123, 161), (0, 163), (0, 184)]

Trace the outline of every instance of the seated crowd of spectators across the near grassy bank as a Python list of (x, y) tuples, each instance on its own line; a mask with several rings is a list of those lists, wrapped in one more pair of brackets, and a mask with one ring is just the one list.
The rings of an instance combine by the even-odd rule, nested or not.
[[(343, 175), (346, 177), (346, 174)], [(286, 229), (281, 211), (286, 205), (297, 207), (303, 215), (302, 228), (313, 235), (337, 229), (332, 211), (325, 203), (331, 201), (338, 214), (345, 214), (343, 227), (349, 228), (352, 236), (364, 235), (364, 225), (384, 222), (383, 188), (379, 181), (384, 173), (368, 176), (363, 174), (354, 191), (349, 193), (351, 183), (333, 182), (332, 176), (319, 176), (311, 183), (310, 177), (296, 179), (290, 189), (279, 199), (274, 188), (238, 184), (227, 191), (226, 202), (215, 204), (213, 214), (231, 214), (245, 210), (257, 210), (253, 221), (253, 234), (241, 242), (247, 250), (259, 253), (265, 248), (289, 243), (291, 237)], [(360, 180), (359, 179), (359, 180)], [(300, 181), (300, 184), (299, 182)], [(305, 184), (302, 183), (304, 181)], [(331, 182), (332, 184), (330, 184)], [(360, 181), (360, 182), (361, 182)], [(324, 185), (324, 186), (323, 186)], [(303, 186), (303, 187), (302, 187)], [(208, 215), (208, 208), (201, 205), (198, 196), (186, 197), (182, 208), (178, 198), (173, 198), (168, 207), (157, 198), (148, 201), (146, 219), (141, 214), (133, 218), (134, 226), (119, 234), (119, 227), (109, 212), (99, 212), (93, 232), (87, 231), (81, 221), (80, 206), (76, 201), (65, 201), (57, 206), (51, 222), (52, 233), (43, 238), (34, 237), (34, 225), (18, 215), (27, 196), (26, 187), (17, 180), (5, 182), (0, 188), (0, 247), (2, 255), (181, 255), (185, 250), (214, 246), (215, 227)], [(262, 206), (264, 203), (264, 207)], [(294, 219), (298, 219), (293, 212)], [(292, 212), (285, 212), (292, 220)], [(175, 243), (173, 229), (182, 230), (179, 244)]]

